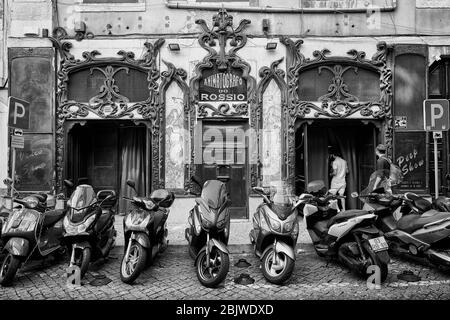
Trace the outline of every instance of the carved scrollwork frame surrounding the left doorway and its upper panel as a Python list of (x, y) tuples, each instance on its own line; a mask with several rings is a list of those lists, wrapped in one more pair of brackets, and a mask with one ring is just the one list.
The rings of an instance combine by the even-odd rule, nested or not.
[[(164, 39), (158, 39), (155, 43), (145, 43), (146, 53), (143, 59), (135, 59), (133, 52), (119, 51), (119, 57), (99, 58), (97, 50), (86, 51), (82, 54), (83, 59), (75, 59), (70, 53), (72, 44), (63, 41), (64, 32), (55, 32), (50, 38), (59, 52), (59, 70), (57, 86), (57, 109), (56, 109), (56, 188), (62, 188), (64, 168), (64, 123), (68, 119), (83, 120), (88, 115), (95, 115), (101, 119), (131, 119), (139, 115), (143, 120), (151, 122), (152, 130), (152, 188), (160, 186), (160, 146), (161, 146), (161, 117), (159, 100), (159, 71), (157, 69), (156, 57)], [(120, 93), (114, 76), (119, 72), (137, 69), (147, 75), (148, 98), (145, 101), (130, 102)], [(83, 69), (89, 70), (90, 74), (100, 72), (104, 76), (104, 82), (99, 92), (91, 97), (89, 102), (73, 101), (68, 99), (68, 84), (70, 75)]]

